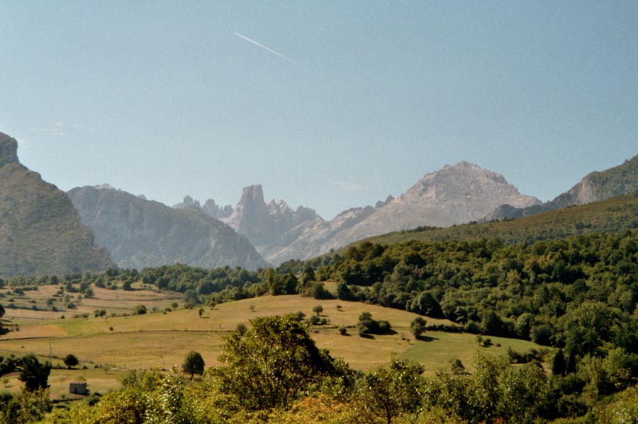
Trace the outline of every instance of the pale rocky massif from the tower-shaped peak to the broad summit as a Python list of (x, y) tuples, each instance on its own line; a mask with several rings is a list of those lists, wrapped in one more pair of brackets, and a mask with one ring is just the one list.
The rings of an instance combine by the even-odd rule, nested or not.
[(354, 207), (332, 221), (307, 207), (293, 210), (283, 200), (266, 203), (262, 186), (251, 185), (222, 220), (247, 236), (266, 260), (279, 264), (388, 231), (475, 221), (503, 203), (525, 207), (541, 202), (518, 193), (498, 173), (460, 162), (427, 174), (397, 198), (388, 196), (374, 207)]

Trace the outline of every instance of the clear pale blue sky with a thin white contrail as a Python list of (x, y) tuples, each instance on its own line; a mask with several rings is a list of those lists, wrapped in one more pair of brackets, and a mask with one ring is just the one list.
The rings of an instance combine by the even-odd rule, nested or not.
[(551, 200), (638, 154), (636, 1), (0, 1), (0, 132), (62, 190), (331, 219), (469, 161)]

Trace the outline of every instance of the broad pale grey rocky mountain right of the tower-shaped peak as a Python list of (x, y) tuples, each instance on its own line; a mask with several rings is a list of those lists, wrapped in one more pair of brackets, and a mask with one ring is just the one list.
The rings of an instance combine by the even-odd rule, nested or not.
[(480, 219), (503, 200), (518, 206), (540, 204), (536, 197), (521, 195), (500, 174), (463, 161), (428, 173), (396, 199), (390, 196), (376, 207), (355, 208), (329, 223), (296, 227), (283, 237), (279, 249), (262, 254), (272, 263), (280, 263), (311, 258), (388, 231), (450, 227)]

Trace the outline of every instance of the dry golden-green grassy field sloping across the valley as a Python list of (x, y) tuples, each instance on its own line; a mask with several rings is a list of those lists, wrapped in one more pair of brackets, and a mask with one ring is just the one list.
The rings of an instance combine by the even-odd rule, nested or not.
[[(57, 286), (45, 286), (12, 298), (16, 305), (44, 307), (56, 291)], [(6, 297), (9, 296), (6, 294)], [(32, 300), (35, 303), (31, 303)], [(62, 367), (62, 358), (72, 353), (79, 358), (79, 367), (52, 371), (52, 396), (55, 399), (68, 397), (65, 394), (68, 382), (77, 379), (86, 379), (91, 391), (104, 393), (116, 388), (118, 378), (129, 369), (169, 369), (172, 365), (181, 364), (190, 350), (201, 353), (207, 366), (217, 365), (225, 337), (237, 328), (237, 324), (249, 325), (250, 320), (257, 316), (297, 311), (310, 316), (314, 314), (313, 306), (318, 304), (323, 306), (321, 317), (330, 323), (311, 327), (313, 339), (320, 348), (327, 348), (333, 356), (344, 358), (357, 369), (384, 365), (396, 353), (422, 363), (426, 374), (432, 375), (456, 358), (471, 368), (479, 349), (500, 355), (505, 354), (508, 347), (519, 351), (537, 348), (523, 340), (502, 338), (492, 338), (495, 346), (491, 348), (480, 348), (476, 336), (461, 333), (429, 332), (430, 341), (413, 340), (410, 323), (416, 314), (358, 302), (264, 296), (220, 304), (214, 309), (206, 308), (201, 316), (197, 308), (180, 307), (164, 312), (174, 302), (174, 297), (150, 290), (96, 289), (94, 298), (81, 299), (77, 309), (72, 311), (7, 309), (5, 319), (17, 324), (19, 331), (10, 331), (0, 337), (0, 355), (34, 353), (42, 360), (50, 358), (54, 365)], [(111, 316), (111, 313), (132, 314), (138, 304), (144, 304), (149, 312)], [(106, 309), (108, 314), (95, 317), (94, 310), (97, 309)], [(374, 338), (359, 337), (354, 326), (364, 311), (370, 312), (374, 319), (389, 321), (396, 333)], [(89, 315), (84, 318), (82, 314)], [(80, 317), (73, 318), (74, 315)], [(427, 323), (449, 321), (427, 319)], [(340, 326), (348, 328), (346, 336), (340, 335)], [(9, 377), (9, 382), (4, 385), (4, 390), (19, 388), (16, 376)], [(0, 386), (2, 389), (3, 386)]]

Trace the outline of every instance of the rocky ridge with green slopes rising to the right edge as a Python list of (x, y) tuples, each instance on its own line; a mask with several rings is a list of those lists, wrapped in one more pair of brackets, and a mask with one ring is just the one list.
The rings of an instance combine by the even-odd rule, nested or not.
[(628, 159), (624, 164), (606, 171), (589, 173), (578, 184), (554, 200), (531, 207), (503, 204), (483, 217), (481, 221), (529, 217), (540, 212), (574, 205), (586, 205), (635, 191), (638, 191), (638, 155)]

